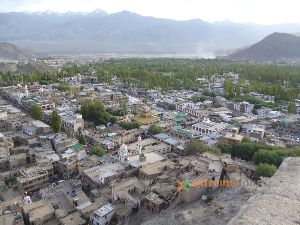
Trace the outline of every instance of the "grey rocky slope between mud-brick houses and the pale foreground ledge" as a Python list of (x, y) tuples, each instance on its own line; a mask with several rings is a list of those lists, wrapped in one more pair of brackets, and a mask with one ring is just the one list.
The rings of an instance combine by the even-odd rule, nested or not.
[[(239, 172), (229, 174), (230, 180), (238, 181), (240, 179)], [(227, 187), (222, 191), (213, 193), (217, 195), (217, 199), (211, 201), (208, 205), (204, 200), (198, 199), (188, 205), (179, 208), (177, 205), (173, 209), (167, 209), (160, 214), (151, 214), (147, 209), (140, 210), (136, 215), (127, 221), (130, 225), (225, 225), (238, 212), (247, 200), (253, 196), (258, 188), (255, 183), (249, 180), (243, 174), (241, 180), (247, 180), (251, 186), (243, 187), (237, 184), (235, 187)], [(219, 207), (224, 207), (221, 211)], [(254, 224), (254, 223), (253, 223)]]

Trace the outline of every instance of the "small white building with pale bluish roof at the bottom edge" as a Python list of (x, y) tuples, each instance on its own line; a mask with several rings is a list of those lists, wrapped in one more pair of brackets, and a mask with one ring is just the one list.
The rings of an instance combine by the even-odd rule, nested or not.
[(115, 208), (109, 203), (105, 204), (90, 215), (90, 220), (94, 225), (108, 225), (115, 217)]

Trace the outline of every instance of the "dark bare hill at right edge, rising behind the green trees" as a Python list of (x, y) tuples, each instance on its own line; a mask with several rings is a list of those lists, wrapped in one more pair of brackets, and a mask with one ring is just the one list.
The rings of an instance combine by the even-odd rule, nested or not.
[(258, 43), (230, 55), (217, 57), (229, 60), (294, 61), (300, 59), (300, 37), (273, 33)]

